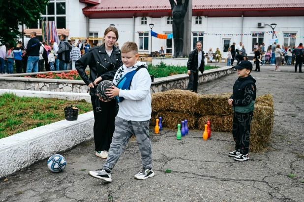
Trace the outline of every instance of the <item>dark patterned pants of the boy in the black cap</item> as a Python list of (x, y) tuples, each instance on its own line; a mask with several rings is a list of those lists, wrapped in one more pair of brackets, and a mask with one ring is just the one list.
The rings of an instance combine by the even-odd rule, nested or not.
[(234, 112), (232, 135), (236, 143), (235, 150), (240, 150), (242, 154), (247, 154), (250, 143), (250, 124), (252, 121), (253, 112), (242, 114)]

